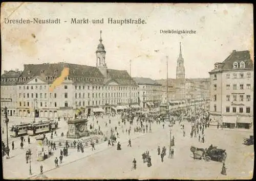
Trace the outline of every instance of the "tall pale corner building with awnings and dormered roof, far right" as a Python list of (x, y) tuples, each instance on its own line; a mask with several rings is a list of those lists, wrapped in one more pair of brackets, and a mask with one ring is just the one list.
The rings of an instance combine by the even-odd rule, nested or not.
[(210, 74), (210, 118), (227, 127), (253, 123), (253, 62), (249, 51), (236, 51), (215, 63)]

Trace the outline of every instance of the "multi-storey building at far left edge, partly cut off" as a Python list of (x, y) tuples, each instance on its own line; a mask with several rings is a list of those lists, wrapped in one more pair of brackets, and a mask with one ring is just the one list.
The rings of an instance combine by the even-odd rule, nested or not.
[(1, 75), (1, 108), (8, 108), (8, 115), (14, 116), (17, 113), (17, 86), (16, 82), (22, 71), (4, 71)]

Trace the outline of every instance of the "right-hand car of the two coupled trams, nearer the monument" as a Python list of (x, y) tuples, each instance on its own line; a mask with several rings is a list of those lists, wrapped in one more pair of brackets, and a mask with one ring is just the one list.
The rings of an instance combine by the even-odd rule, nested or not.
[(37, 134), (52, 132), (58, 128), (58, 123), (56, 121), (44, 121), (38, 123), (32, 123), (27, 131), (29, 136), (34, 136)]

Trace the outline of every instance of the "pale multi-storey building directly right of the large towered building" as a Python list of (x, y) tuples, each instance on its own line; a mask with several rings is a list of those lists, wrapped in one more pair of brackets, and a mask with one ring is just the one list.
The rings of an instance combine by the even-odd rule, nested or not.
[(156, 107), (162, 101), (162, 85), (150, 78), (134, 77), (139, 85), (138, 102), (141, 108)]

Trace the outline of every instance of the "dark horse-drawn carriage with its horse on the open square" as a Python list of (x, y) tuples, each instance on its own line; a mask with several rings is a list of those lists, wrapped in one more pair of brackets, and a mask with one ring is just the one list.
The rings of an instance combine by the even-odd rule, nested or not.
[(190, 151), (193, 153), (194, 159), (204, 159), (205, 161), (218, 161), (225, 162), (227, 153), (225, 149), (219, 149), (217, 146), (209, 146), (208, 149), (197, 148), (195, 146), (190, 147)]

